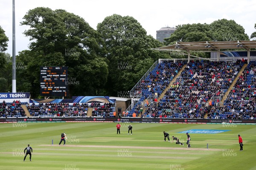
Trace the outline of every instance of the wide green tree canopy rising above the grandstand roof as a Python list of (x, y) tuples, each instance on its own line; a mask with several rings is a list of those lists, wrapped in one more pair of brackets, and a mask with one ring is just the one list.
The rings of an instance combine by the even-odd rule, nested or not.
[(176, 31), (166, 38), (166, 45), (176, 41), (231, 41), (249, 40), (244, 28), (234, 20), (217, 20), (210, 24), (184, 24), (176, 26)]

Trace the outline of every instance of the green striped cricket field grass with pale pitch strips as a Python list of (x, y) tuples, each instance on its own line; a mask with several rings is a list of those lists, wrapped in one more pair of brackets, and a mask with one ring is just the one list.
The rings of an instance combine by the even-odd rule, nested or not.
[[(116, 123), (0, 124), (0, 170), (256, 170), (256, 125), (132, 123), (132, 135), (128, 125), (121, 123), (117, 135)], [(190, 129), (230, 131), (190, 133), (187, 148), (186, 134), (178, 132)], [(163, 131), (184, 146), (164, 142)], [(66, 146), (58, 146), (63, 132)], [(23, 161), (27, 144), (32, 161)]]

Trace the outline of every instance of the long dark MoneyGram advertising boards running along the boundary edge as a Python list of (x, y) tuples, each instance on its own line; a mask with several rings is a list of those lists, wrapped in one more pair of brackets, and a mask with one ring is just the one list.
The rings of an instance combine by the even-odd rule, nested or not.
[(142, 122), (142, 123), (195, 123), (195, 124), (256, 124), (256, 119), (173, 119), (173, 118), (134, 118), (134, 117), (12, 117), (0, 118), (3, 122)]

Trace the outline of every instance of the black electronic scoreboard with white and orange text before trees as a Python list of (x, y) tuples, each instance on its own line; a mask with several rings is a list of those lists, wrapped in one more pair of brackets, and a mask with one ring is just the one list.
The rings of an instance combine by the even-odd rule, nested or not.
[(41, 96), (68, 96), (67, 67), (40, 67)]

